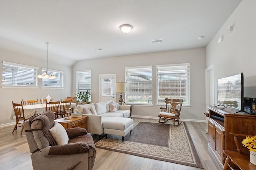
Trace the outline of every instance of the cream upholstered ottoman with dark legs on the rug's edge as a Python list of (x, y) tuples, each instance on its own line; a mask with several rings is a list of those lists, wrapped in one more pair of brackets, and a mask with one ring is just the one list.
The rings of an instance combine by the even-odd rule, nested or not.
[(107, 135), (122, 136), (124, 142), (124, 136), (130, 131), (132, 134), (132, 119), (126, 117), (102, 117), (103, 133), (107, 139)]

